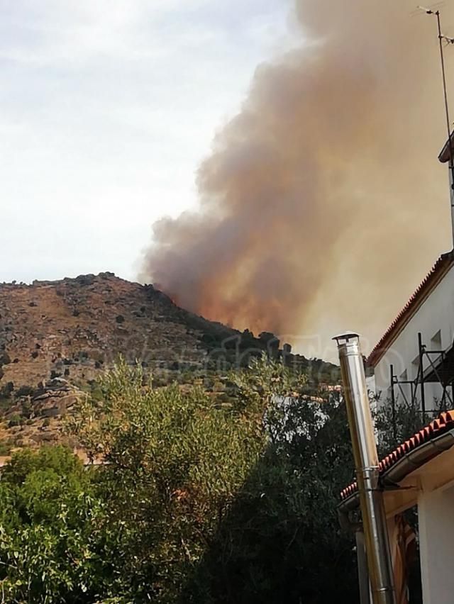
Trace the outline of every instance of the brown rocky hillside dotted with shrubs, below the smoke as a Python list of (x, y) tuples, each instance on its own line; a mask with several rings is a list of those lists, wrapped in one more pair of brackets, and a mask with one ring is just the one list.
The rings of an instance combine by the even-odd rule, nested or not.
[[(0, 455), (60, 438), (61, 416), (77, 393), (94, 388), (119, 355), (164, 384), (194, 371), (222, 374), (264, 350), (309, 363), (287, 345), (282, 352), (270, 333), (254, 337), (211, 322), (113, 273), (0, 284)], [(318, 376), (337, 371), (316, 363)]]

